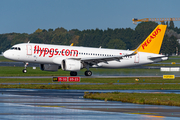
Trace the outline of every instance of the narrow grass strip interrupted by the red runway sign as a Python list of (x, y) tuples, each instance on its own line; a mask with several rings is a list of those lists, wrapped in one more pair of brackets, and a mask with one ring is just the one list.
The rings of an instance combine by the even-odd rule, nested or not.
[[(53, 76), (52, 76), (53, 78)], [(1, 78), (0, 83), (57, 83), (52, 82), (52, 78)], [(164, 80), (161, 77), (140, 77), (139, 81), (135, 81), (133, 78), (81, 78), (81, 83), (180, 83), (180, 77), (176, 77), (173, 80)]]

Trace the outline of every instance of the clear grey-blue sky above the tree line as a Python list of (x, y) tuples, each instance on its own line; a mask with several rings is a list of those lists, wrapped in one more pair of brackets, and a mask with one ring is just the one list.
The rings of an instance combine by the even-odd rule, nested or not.
[[(180, 17), (180, 0), (0, 0), (0, 34), (38, 28), (132, 28), (132, 18)], [(174, 22), (180, 27), (180, 21)]]

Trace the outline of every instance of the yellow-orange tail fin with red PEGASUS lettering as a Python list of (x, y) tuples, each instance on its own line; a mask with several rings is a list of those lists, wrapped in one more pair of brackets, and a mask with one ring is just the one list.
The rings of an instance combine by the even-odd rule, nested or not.
[(134, 51), (159, 54), (167, 25), (158, 25), (143, 43)]

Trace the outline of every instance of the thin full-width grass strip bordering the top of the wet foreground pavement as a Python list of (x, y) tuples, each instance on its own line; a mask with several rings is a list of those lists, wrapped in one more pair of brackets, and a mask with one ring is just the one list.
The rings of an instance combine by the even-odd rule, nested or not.
[[(63, 87), (62, 87), (63, 86)], [(0, 88), (25, 88), (25, 89), (75, 89), (75, 90), (180, 90), (180, 84), (128, 84), (128, 85), (73, 85), (68, 84), (17, 84), (4, 85), (0, 84)]]

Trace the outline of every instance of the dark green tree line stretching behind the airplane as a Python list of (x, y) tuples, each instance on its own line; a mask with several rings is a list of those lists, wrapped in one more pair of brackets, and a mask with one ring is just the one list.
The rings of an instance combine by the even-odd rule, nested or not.
[[(180, 28), (174, 27), (173, 21), (164, 23), (168, 25), (166, 35), (161, 47), (161, 53), (172, 54), (176, 47), (180, 48), (177, 39), (180, 38)], [(155, 29), (158, 24), (155, 22), (139, 23), (135, 29), (131, 28), (107, 28), (87, 30), (66, 30), (64, 28), (40, 29), (34, 33), (8, 33), (0, 34), (0, 52), (4, 52), (17, 43), (44, 43), (57, 45), (70, 45), (85, 47), (102, 47), (112, 49), (135, 49)]]

